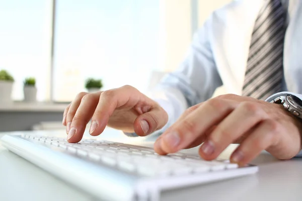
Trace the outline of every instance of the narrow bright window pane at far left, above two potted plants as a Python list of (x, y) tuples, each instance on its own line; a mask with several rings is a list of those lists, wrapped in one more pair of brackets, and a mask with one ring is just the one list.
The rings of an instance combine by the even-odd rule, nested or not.
[(0, 69), (8, 70), (15, 78), (15, 100), (23, 99), (23, 80), (27, 76), (37, 78), (38, 99), (46, 99), (48, 6), (42, 0), (0, 0)]

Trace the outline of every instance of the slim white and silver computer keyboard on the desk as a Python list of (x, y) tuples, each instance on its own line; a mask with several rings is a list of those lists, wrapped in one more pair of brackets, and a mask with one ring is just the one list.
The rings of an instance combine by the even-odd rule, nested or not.
[(72, 144), (43, 135), (6, 135), (1, 140), (9, 150), (102, 200), (160, 200), (164, 190), (258, 171), (257, 166), (205, 161), (181, 152), (161, 156), (153, 148), (106, 140)]

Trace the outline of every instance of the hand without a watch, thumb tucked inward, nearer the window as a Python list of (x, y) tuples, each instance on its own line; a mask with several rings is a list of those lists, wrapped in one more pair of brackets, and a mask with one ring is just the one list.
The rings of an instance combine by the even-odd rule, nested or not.
[(79, 93), (63, 114), (68, 142), (79, 142), (90, 120), (89, 132), (93, 136), (101, 134), (107, 125), (145, 136), (165, 126), (168, 115), (154, 100), (126, 85), (96, 93)]

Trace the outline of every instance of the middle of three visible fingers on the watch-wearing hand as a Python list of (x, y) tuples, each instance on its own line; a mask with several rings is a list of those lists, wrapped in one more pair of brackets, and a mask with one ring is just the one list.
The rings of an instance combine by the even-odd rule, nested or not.
[(202, 144), (200, 155), (206, 160), (215, 159), (226, 147), (267, 118), (259, 104), (242, 102), (209, 135)]

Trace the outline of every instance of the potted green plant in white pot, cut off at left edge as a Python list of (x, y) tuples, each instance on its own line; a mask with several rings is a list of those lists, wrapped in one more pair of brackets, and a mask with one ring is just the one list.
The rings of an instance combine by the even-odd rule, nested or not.
[(1, 104), (11, 104), (12, 100), (12, 91), (14, 84), (13, 76), (8, 73), (6, 70), (0, 71), (0, 103)]

